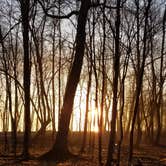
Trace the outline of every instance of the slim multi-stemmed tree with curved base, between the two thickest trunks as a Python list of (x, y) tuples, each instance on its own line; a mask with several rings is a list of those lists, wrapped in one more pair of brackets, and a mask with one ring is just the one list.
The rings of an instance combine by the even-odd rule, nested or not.
[[(36, 12), (36, 11), (35, 11)], [(38, 131), (38, 133), (36, 134), (36, 136), (34, 137), (34, 140), (37, 139), (38, 136), (43, 135), (46, 131), (46, 127), (47, 125), (50, 123), (51, 118), (50, 118), (50, 114), (51, 114), (51, 109), (50, 109), (50, 105), (49, 105), (49, 101), (48, 101), (48, 96), (46, 93), (46, 89), (44, 86), (44, 74), (43, 74), (43, 45), (44, 45), (44, 40), (43, 40), (43, 35), (44, 35), (44, 29), (45, 29), (45, 24), (46, 24), (46, 16), (43, 16), (44, 18), (41, 21), (41, 32), (39, 31), (39, 34), (37, 34), (35, 25), (34, 25), (34, 21), (32, 24), (32, 28), (31, 30), (31, 34), (32, 34), (32, 38), (34, 41), (34, 45), (35, 45), (35, 51), (36, 51), (36, 61), (35, 61), (35, 69), (36, 69), (36, 81), (37, 81), (37, 89), (38, 89), (38, 102), (39, 102), (39, 106), (40, 106), (40, 102), (41, 102), (41, 106), (42, 106), (42, 113), (43, 116), (40, 120), (41, 122), (41, 127)], [(35, 16), (34, 16), (35, 19)], [(39, 37), (38, 37), (39, 36)], [(34, 59), (35, 59), (34, 57)], [(39, 74), (38, 74), (39, 73)], [(39, 78), (38, 78), (39, 77)], [(41, 101), (40, 101), (41, 100)], [(39, 107), (40, 108), (40, 107)]]

